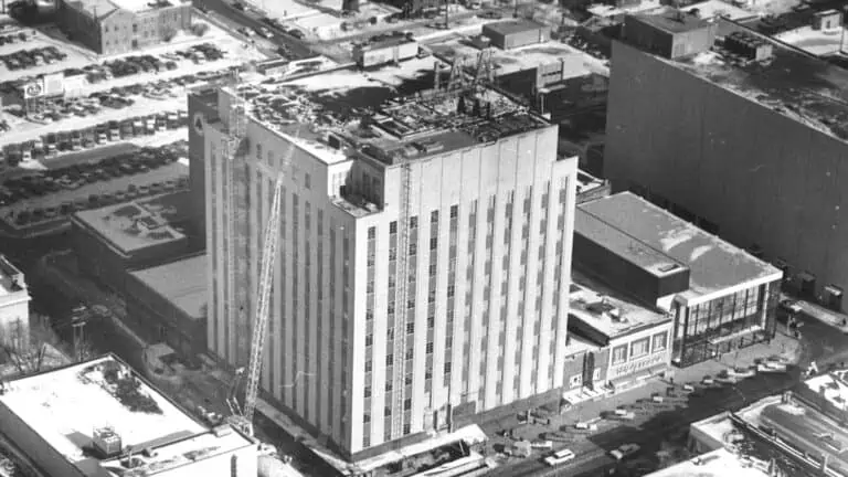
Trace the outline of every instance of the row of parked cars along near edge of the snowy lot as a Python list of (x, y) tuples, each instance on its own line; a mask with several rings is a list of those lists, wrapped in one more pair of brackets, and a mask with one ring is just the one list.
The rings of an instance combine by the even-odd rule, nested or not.
[(78, 151), (97, 145), (153, 135), (188, 124), (186, 112), (159, 113), (124, 120), (110, 120), (94, 127), (63, 132), (50, 132), (38, 139), (8, 145), (0, 152), (0, 161), (17, 166), (21, 161), (50, 157), (61, 151)]

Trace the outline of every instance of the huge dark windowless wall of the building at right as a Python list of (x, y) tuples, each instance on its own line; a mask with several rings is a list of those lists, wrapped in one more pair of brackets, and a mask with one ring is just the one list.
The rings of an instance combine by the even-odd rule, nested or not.
[(845, 141), (619, 42), (613, 65), (604, 173), (617, 190), (848, 288)]

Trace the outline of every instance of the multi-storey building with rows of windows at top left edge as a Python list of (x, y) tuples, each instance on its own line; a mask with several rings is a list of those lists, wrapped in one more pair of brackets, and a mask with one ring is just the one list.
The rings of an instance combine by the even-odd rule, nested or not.
[(141, 50), (191, 26), (184, 0), (56, 0), (59, 25), (98, 54)]

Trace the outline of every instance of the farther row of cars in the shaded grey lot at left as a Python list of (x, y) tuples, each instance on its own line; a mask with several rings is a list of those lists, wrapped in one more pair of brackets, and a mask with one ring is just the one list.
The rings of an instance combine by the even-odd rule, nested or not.
[[(89, 183), (108, 181), (120, 177), (148, 172), (179, 159), (167, 148), (145, 148), (139, 151), (104, 159), (99, 162), (74, 165), (66, 168), (39, 171), (15, 179), (7, 179), (0, 186), (0, 206), (11, 205), (28, 199), (44, 197), (63, 190), (76, 190)], [(129, 187), (142, 195), (163, 193), (168, 189), (184, 186), (180, 179), (155, 182), (147, 186)], [(119, 198), (120, 199), (120, 198)], [(85, 198), (87, 202), (97, 202)], [(100, 203), (102, 204), (102, 203)]]

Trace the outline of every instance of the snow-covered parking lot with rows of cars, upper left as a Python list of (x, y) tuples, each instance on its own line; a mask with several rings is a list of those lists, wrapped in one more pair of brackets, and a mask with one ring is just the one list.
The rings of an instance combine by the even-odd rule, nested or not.
[[(46, 38), (46, 41), (57, 43), (41, 33), (35, 33), (34, 38)], [(25, 49), (31, 50), (33, 46), (41, 47), (28, 43)], [(60, 46), (63, 45), (60, 43)], [(0, 46), (0, 56), (3, 49), (8, 47)], [(4, 108), (0, 115), (0, 144), (14, 146), (7, 148), (12, 150), (12, 156), (17, 156), (11, 162), (28, 159), (23, 151), (31, 148), (38, 155), (38, 151), (49, 147), (49, 142), (55, 141), (56, 149), (59, 145), (67, 144), (68, 150), (76, 150), (85, 147), (83, 144), (86, 138), (97, 144), (102, 134), (112, 141), (114, 139), (109, 130), (115, 121), (119, 124), (121, 139), (125, 129), (130, 127), (132, 136), (138, 136), (137, 128), (128, 124), (139, 117), (146, 120), (163, 112), (182, 112), (184, 115), (189, 87), (225, 78), (233, 66), (263, 59), (258, 51), (215, 26), (210, 26), (202, 38), (184, 33), (170, 44), (100, 60), (74, 55), (68, 53), (73, 52), (73, 46), (64, 47), (66, 51), (62, 47), (59, 50), (68, 55), (67, 61), (45, 65), (39, 72), (64, 71), (66, 78), (71, 75), (83, 80), (74, 83), (73, 91), (66, 86), (64, 97), (41, 102), (38, 112), (28, 116), (23, 114), (20, 99), (15, 104), (11, 98), (20, 91), (20, 85), (34, 77), (36, 71), (26, 70), (7, 75), (0, 66), (0, 73), (3, 73), (0, 75), (0, 95)], [(166, 120), (170, 124), (170, 119)], [(180, 121), (183, 120), (180, 118)], [(160, 119), (156, 121), (152, 134), (163, 132), (165, 129), (158, 126)], [(147, 125), (142, 128), (147, 129)], [(22, 152), (18, 155), (14, 150)], [(57, 150), (57, 153), (61, 152)], [(46, 156), (52, 153), (52, 150), (47, 151)]]

